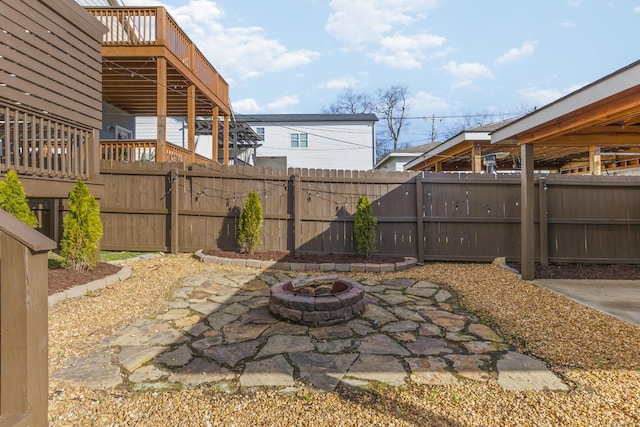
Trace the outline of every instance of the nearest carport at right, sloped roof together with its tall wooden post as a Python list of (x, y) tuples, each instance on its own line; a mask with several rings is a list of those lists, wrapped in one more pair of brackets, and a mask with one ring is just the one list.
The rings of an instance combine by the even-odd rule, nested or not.
[(522, 277), (534, 278), (534, 158), (589, 147), (589, 170), (603, 157), (640, 155), (640, 61), (491, 133), (491, 143), (520, 148)]

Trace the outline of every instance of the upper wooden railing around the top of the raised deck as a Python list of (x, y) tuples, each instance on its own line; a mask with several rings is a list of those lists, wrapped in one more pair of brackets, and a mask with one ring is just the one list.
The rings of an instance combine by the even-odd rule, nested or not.
[(220, 99), (228, 99), (229, 85), (163, 7), (89, 7), (87, 11), (108, 28), (104, 45), (166, 46)]

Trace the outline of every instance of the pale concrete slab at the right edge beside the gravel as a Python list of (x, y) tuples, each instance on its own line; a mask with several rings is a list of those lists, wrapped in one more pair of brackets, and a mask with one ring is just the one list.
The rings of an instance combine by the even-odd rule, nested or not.
[(640, 280), (551, 280), (531, 283), (640, 326)]

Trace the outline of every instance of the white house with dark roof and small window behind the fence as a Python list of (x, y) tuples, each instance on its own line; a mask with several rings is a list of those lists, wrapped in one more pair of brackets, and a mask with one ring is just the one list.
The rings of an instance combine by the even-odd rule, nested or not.
[(369, 170), (375, 114), (237, 114), (262, 138), (257, 166)]

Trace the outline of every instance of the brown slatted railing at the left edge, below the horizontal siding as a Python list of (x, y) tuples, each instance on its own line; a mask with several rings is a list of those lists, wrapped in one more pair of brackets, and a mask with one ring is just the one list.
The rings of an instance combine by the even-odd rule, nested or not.
[(0, 104), (0, 173), (86, 179), (92, 141), (90, 129)]

